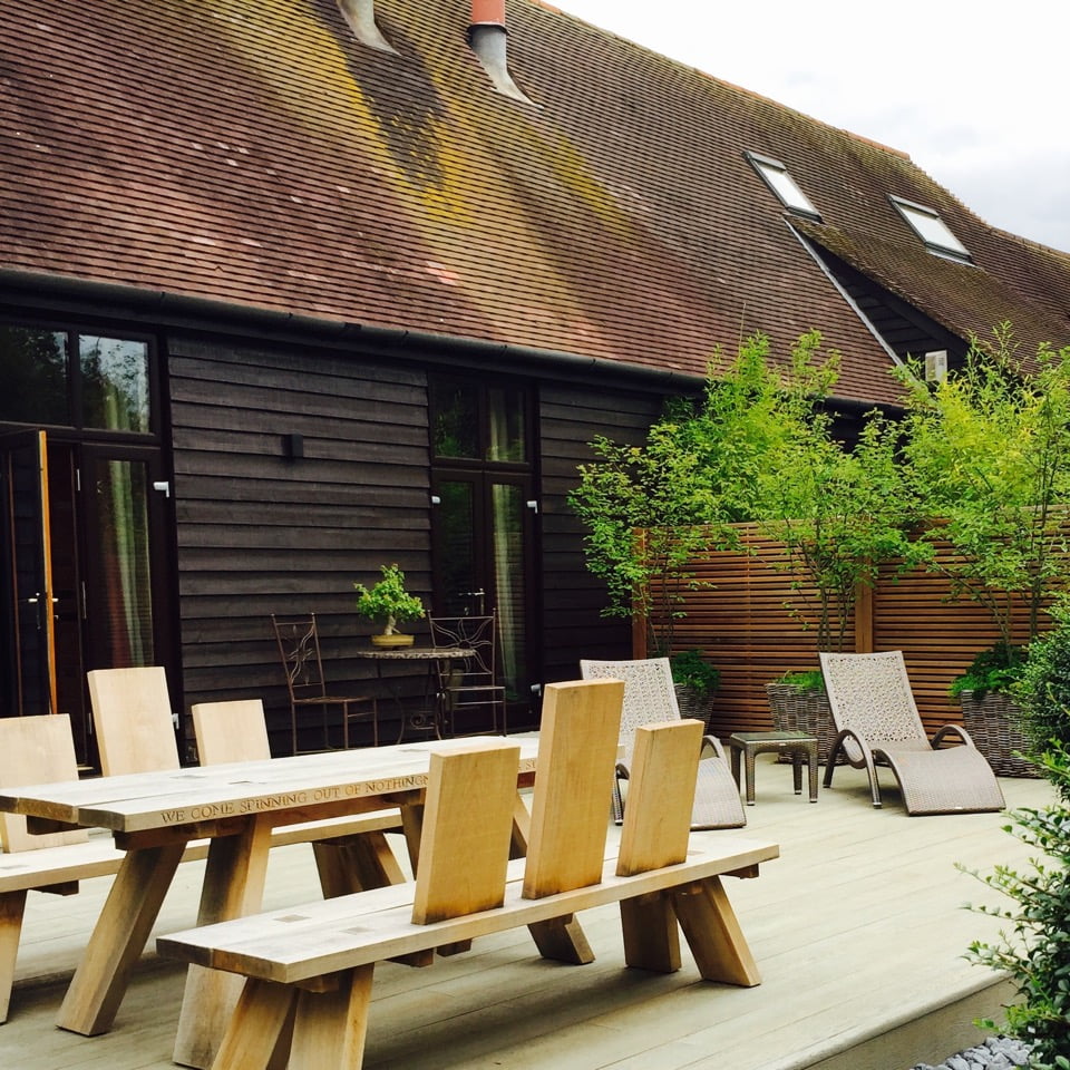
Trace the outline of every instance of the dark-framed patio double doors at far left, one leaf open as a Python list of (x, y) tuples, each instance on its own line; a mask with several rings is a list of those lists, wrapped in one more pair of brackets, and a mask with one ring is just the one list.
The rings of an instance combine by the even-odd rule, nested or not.
[(86, 671), (173, 669), (159, 450), (25, 431), (0, 436), (0, 716), (68, 713), (93, 766)]

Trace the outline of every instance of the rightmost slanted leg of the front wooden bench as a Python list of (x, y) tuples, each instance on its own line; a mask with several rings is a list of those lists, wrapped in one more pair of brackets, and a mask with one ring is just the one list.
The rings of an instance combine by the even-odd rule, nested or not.
[(720, 877), (670, 891), (680, 927), (706, 981), (751, 986), (761, 974)]

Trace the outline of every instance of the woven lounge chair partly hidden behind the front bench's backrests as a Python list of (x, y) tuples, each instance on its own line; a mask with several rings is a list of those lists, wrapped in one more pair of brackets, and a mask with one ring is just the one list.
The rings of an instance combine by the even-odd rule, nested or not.
[[(624, 755), (616, 766), (616, 782), (613, 789), (613, 817), (621, 824), (624, 818), (621, 781), (628, 780), (630, 776), (635, 729), (642, 724), (681, 719), (677, 692), (672, 685), (672, 671), (668, 658), (649, 658), (641, 661), (583, 660), (580, 662), (580, 672), (584, 680), (624, 681), (624, 711), (621, 717), (621, 745)], [(703, 736), (691, 827), (739, 828), (746, 824), (747, 816), (739, 798), (739, 786), (732, 777), (720, 740), (713, 736)]]

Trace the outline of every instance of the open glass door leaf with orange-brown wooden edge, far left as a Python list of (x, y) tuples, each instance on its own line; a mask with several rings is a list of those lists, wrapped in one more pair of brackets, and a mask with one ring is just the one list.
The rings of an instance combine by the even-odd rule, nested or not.
[(43, 431), (0, 436), (3, 488), (0, 714), (55, 713), (56, 628)]

